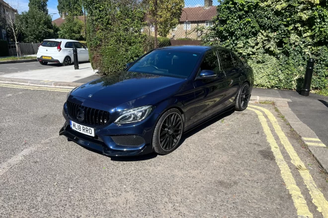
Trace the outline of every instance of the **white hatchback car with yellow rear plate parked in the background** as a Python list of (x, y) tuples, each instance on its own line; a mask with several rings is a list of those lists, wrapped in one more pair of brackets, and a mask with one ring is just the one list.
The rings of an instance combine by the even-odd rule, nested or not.
[(82, 43), (69, 39), (46, 39), (39, 46), (37, 59), (42, 65), (48, 62), (61, 63), (63, 66), (74, 62), (73, 49), (78, 50), (79, 62), (89, 60), (89, 52)]

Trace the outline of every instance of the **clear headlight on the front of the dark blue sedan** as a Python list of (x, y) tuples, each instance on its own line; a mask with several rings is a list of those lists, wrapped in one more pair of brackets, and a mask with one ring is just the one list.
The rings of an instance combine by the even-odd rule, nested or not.
[(141, 121), (146, 119), (152, 110), (152, 106), (121, 110), (120, 114), (122, 115), (115, 120), (115, 123), (123, 124)]

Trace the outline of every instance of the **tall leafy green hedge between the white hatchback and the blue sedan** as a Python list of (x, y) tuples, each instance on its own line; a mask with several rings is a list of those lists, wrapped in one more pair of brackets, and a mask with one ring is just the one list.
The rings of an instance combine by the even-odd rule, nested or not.
[(87, 11), (90, 62), (100, 74), (112, 74), (149, 50), (141, 30), (145, 9), (139, 0), (83, 0)]

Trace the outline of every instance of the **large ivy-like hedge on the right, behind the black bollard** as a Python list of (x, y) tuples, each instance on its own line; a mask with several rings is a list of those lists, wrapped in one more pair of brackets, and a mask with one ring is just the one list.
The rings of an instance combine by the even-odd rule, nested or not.
[(307, 59), (314, 57), (312, 88), (327, 89), (327, 20), (326, 0), (219, 0), (202, 40), (238, 53), (259, 87), (299, 89)]

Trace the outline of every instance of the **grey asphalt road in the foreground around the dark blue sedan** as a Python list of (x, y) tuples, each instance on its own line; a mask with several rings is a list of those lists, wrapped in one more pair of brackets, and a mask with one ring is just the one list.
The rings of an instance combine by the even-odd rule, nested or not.
[[(108, 158), (58, 136), (65, 91), (4, 86), (1, 218), (322, 218), (327, 210), (315, 201), (318, 193), (319, 204), (328, 199), (326, 174), (279, 117), (283, 131), (276, 133), (254, 110), (229, 112), (186, 133), (169, 155)], [(271, 105), (257, 106), (276, 116)], [(308, 170), (291, 162), (281, 135)]]

